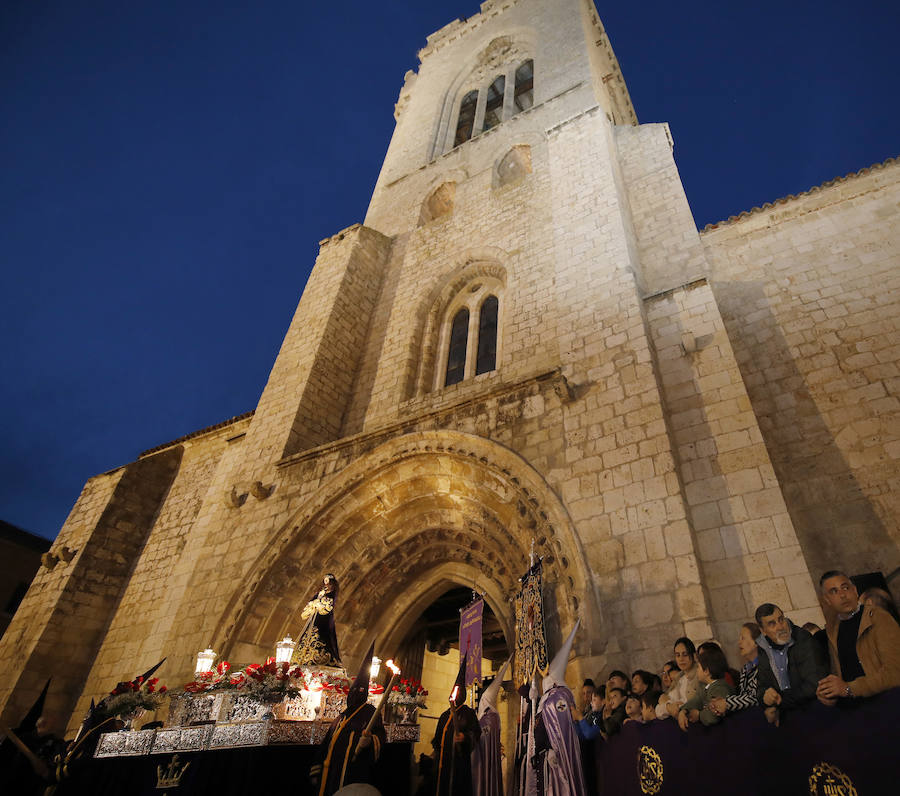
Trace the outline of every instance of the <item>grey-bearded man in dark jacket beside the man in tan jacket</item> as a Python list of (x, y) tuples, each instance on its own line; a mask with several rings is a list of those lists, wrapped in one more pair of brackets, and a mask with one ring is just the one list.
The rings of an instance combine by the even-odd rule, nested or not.
[(756, 640), (759, 703), (766, 718), (777, 724), (783, 711), (816, 698), (819, 680), (828, 674), (828, 661), (809, 631), (797, 627), (777, 605), (759, 606), (756, 622), (762, 630)]

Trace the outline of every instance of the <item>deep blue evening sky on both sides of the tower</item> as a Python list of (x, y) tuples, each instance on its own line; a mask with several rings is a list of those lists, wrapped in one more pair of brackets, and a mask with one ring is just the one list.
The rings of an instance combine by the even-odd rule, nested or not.
[[(598, 10), (700, 227), (900, 154), (897, 3)], [(53, 537), (90, 476), (254, 408), (416, 51), (477, 11), (0, 6), (0, 517)]]

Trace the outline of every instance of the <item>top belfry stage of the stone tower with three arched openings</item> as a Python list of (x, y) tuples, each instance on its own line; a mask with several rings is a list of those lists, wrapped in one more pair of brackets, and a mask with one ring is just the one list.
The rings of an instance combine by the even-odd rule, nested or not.
[[(395, 106), (397, 127), (366, 219), (376, 228), (386, 186), (434, 170), (459, 145), (515, 117), (519, 135), (598, 106), (611, 124), (637, 124), (591, 0), (486, 0), (480, 14), (429, 36), (419, 59)], [(388, 199), (387, 213), (391, 207)]]

